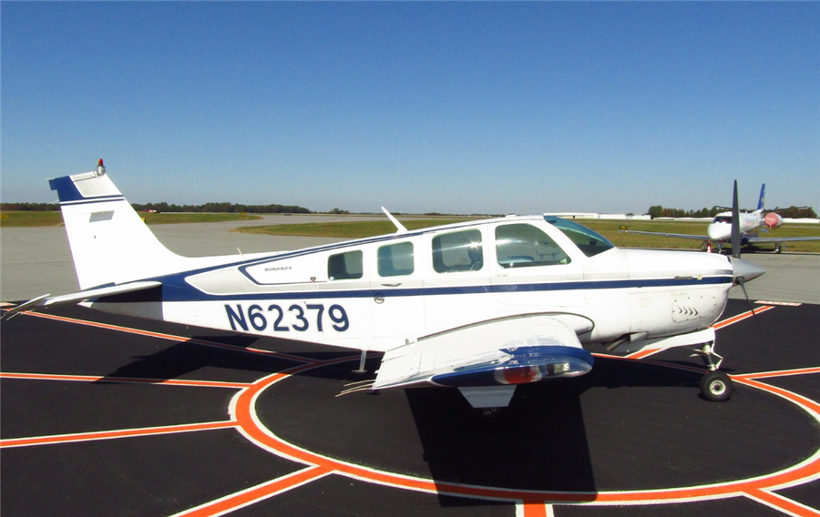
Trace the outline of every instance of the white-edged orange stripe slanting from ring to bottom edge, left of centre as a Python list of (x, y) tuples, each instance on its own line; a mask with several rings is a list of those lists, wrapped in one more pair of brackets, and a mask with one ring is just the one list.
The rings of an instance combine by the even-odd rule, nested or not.
[(269, 482), (263, 482), (241, 492), (231, 493), (215, 501), (206, 502), (190, 510), (174, 513), (171, 517), (213, 517), (235, 512), (255, 502), (264, 501), (274, 495), (287, 492), (303, 484), (314, 482), (324, 476), (331, 474), (320, 467), (308, 467), (301, 471), (295, 471), (284, 475), (281, 478)]

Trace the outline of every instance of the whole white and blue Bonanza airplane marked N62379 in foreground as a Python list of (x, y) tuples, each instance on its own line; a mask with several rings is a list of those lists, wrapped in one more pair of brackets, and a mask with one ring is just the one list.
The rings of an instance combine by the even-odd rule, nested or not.
[(165, 248), (106, 174), (50, 180), (80, 292), (59, 303), (259, 336), (384, 352), (374, 384), (456, 387), (479, 414), (520, 383), (583, 375), (613, 354), (699, 346), (703, 396), (726, 400), (714, 323), (729, 289), (764, 274), (686, 251), (615, 248), (561, 218), (478, 220), (295, 251), (212, 258)]

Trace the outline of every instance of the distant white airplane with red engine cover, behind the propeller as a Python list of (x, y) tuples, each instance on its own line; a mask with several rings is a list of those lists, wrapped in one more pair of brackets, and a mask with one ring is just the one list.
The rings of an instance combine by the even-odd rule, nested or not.
[[(782, 244), (784, 242), (820, 240), (820, 237), (760, 237), (759, 232), (761, 231), (765, 233), (769, 229), (780, 228), (783, 226), (783, 218), (780, 214), (764, 208), (765, 193), (766, 184), (764, 183), (763, 187), (760, 189), (760, 200), (757, 202), (757, 209), (753, 212), (738, 213), (737, 219), (740, 220), (741, 246), (754, 244), (774, 244), (774, 251), (776, 253), (780, 253), (783, 250)], [(660, 235), (662, 237), (672, 238), (691, 238), (708, 243), (710, 248), (712, 244), (716, 244), (718, 248), (722, 248), (724, 243), (730, 243), (732, 241), (733, 219), (734, 217), (731, 211), (717, 214), (706, 228), (706, 235), (662, 233), (627, 229), (622, 229), (620, 231), (622, 233), (642, 233), (644, 235)]]

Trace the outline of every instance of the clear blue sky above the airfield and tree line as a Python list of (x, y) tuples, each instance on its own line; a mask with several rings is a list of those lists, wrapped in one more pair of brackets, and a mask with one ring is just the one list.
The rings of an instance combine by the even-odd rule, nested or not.
[(820, 210), (820, 2), (0, 4), (0, 200)]

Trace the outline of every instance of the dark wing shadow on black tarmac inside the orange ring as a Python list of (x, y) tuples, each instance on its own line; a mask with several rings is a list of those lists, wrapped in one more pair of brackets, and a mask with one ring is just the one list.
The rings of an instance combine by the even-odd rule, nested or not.
[[(477, 421), (456, 390), (408, 388), (405, 395), (436, 482), (595, 492), (576, 390), (551, 390), (538, 398), (518, 399), (508, 418), (497, 422)], [(440, 502), (442, 506), (484, 503), (447, 497)]]

